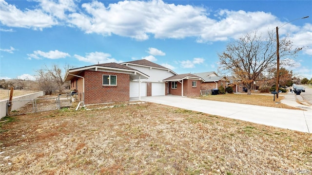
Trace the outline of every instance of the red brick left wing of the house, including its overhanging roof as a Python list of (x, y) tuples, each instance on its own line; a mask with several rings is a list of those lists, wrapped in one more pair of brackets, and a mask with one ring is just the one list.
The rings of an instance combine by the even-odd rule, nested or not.
[(130, 80), (147, 78), (148, 75), (130, 67), (105, 63), (70, 69), (65, 81), (71, 81), (71, 90), (78, 91), (78, 98), (84, 104), (98, 104), (129, 101)]

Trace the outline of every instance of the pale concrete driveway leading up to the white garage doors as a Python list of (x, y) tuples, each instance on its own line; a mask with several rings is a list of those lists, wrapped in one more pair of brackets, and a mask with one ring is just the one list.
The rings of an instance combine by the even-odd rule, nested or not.
[[(138, 100), (132, 98), (132, 100)], [(232, 119), (265, 124), (301, 132), (312, 132), (312, 110), (292, 110), (199, 100), (175, 95), (141, 97), (142, 101), (175, 106)]]

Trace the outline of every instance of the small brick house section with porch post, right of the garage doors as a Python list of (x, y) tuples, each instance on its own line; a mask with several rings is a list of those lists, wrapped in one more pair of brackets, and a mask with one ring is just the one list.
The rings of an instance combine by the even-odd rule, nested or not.
[(200, 83), (204, 80), (191, 73), (174, 75), (163, 80), (168, 85), (168, 93), (181, 96), (200, 96)]

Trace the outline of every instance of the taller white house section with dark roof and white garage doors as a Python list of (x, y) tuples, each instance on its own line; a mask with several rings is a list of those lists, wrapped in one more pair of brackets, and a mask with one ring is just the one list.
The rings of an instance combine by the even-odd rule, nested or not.
[(121, 63), (121, 65), (133, 68), (149, 76), (146, 79), (141, 79), (141, 83), (139, 83), (138, 79), (130, 81), (130, 97), (139, 97), (139, 85), (141, 86), (141, 97), (167, 95), (169, 89), (163, 80), (176, 75), (176, 72), (146, 59), (125, 62)]

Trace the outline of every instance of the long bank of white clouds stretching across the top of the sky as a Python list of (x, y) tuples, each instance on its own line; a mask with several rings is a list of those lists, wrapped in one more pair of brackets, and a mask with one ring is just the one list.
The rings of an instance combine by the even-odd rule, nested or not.
[[(35, 1), (38, 2), (36, 9), (21, 10), (0, 0), (1, 24), (40, 30), (54, 25), (69, 25), (88, 34), (114, 34), (137, 40), (147, 40), (151, 36), (196, 37), (197, 42), (209, 43), (236, 39), (254, 30), (266, 33), (268, 29), (274, 30), (276, 26), (287, 22), (278, 20), (271, 13), (226, 9), (214, 12), (214, 18), (211, 18), (210, 12), (204, 6), (176, 5), (162, 0), (112, 1), (107, 6), (102, 1), (82, 1), (81, 7), (78, 7), (79, 0)], [(281, 28), (280, 34), (298, 30), (299, 27), (287, 24), (287, 27)], [(305, 32), (295, 37), (299, 40), (307, 36), (304, 39), (307, 42), (311, 36), (311, 24), (307, 24), (302, 31)], [(304, 52), (312, 53), (311, 49)]]

